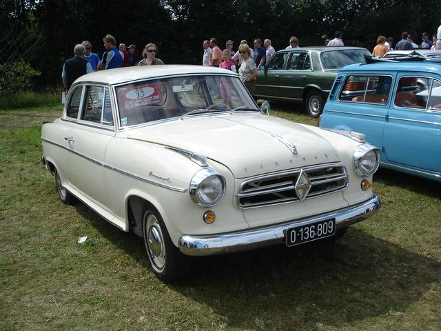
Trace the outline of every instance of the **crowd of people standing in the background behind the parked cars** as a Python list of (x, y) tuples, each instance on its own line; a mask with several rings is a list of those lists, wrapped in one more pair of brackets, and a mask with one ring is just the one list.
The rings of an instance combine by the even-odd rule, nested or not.
[[(345, 46), (342, 40), (342, 32), (340, 31), (335, 32), (334, 39), (329, 39), (327, 36), (322, 37), (325, 39), (325, 46)], [(74, 47), (74, 57), (65, 61), (61, 74), (65, 90), (70, 88), (76, 78), (96, 70), (164, 64), (161, 59), (156, 57), (157, 48), (154, 43), (147, 43), (145, 45), (141, 61), (138, 59), (136, 46), (132, 44), (126, 48), (124, 43), (120, 43), (119, 48), (116, 48), (116, 39), (111, 34), (103, 37), (103, 45), (105, 52), (101, 59), (96, 53), (92, 52), (90, 41), (83, 41)], [(271, 46), (270, 39), (265, 39), (262, 43), (260, 39), (256, 38), (254, 39), (253, 46), (254, 48), (250, 48), (248, 42), (243, 39), (240, 41), (238, 51), (235, 52), (232, 40), (228, 40), (225, 43), (224, 50), (220, 50), (218, 41), (215, 38), (205, 40), (203, 41), (202, 65), (238, 72), (240, 80), (243, 81), (249, 92), (253, 93), (258, 70), (276, 52), (274, 47)], [(394, 50), (393, 46), (393, 37), (386, 38), (380, 35), (377, 38), (377, 46), (372, 50), (372, 55), (374, 57), (382, 57), (387, 52)], [(289, 39), (289, 46), (286, 49), (290, 48), (300, 48), (297, 37), (293, 36)], [(441, 26), (438, 27), (437, 34), (433, 34), (431, 39), (430, 34), (424, 32), (420, 45), (414, 42), (411, 34), (402, 32), (401, 40), (396, 43), (395, 50), (411, 50), (415, 48), (441, 50)]]

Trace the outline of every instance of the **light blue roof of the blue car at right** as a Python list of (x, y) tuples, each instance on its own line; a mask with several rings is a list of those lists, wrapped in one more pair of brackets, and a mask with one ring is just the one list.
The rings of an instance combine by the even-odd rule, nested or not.
[(378, 61), (374, 63), (364, 64), (364, 63), (356, 63), (350, 64), (349, 66), (345, 66), (340, 69), (340, 72), (390, 72), (390, 71), (413, 71), (413, 72), (434, 72), (437, 74), (441, 74), (441, 63), (435, 61), (407, 61), (407, 62), (398, 62), (398, 61)]

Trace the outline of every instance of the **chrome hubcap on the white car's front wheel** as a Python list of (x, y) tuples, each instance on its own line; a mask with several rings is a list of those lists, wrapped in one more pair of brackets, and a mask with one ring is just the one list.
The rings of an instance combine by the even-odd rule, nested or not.
[(145, 228), (147, 229), (147, 250), (150, 261), (155, 268), (162, 269), (165, 265), (165, 248), (163, 240), (163, 232), (159, 226), (158, 219), (154, 214), (149, 214), (145, 221)]

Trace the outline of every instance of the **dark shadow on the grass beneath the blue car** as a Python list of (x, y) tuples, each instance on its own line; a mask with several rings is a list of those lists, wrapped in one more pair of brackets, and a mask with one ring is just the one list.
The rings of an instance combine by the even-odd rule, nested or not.
[(384, 183), (384, 185), (404, 188), (417, 194), (441, 199), (440, 183), (437, 181), (430, 181), (422, 177), (384, 168), (380, 168), (374, 175), (373, 182), (376, 183), (377, 181)]

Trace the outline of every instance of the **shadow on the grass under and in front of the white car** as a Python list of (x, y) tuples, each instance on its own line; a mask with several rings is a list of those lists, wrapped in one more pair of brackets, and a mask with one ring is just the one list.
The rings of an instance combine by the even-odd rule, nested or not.
[[(104, 237), (150, 268), (142, 240), (77, 207)], [(169, 285), (240, 329), (318, 330), (407, 309), (440, 281), (441, 264), (358, 230), (330, 243), (194, 259)], [(161, 303), (166, 304), (166, 303)]]

